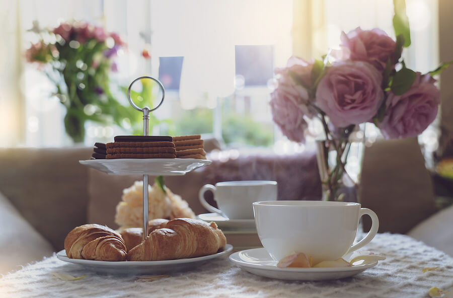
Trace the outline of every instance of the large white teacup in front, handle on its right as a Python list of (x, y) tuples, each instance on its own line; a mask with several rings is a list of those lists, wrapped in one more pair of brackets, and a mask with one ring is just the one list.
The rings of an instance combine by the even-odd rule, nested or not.
[[(305, 253), (313, 264), (343, 257), (368, 244), (378, 233), (378, 215), (359, 203), (332, 201), (266, 201), (253, 203), (258, 236), (275, 260)], [(368, 234), (353, 244), (359, 219), (367, 214)]]

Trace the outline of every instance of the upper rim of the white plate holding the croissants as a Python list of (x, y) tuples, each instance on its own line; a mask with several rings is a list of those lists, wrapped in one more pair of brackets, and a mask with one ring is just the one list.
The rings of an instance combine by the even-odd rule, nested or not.
[(106, 266), (106, 267), (128, 267), (128, 266), (138, 266), (138, 267), (153, 267), (153, 266), (166, 266), (166, 265), (178, 265), (178, 264), (185, 264), (185, 263), (194, 263), (204, 260), (209, 260), (213, 258), (217, 258), (228, 254), (233, 250), (233, 246), (231, 244), (225, 245), (221, 252), (196, 257), (196, 258), (187, 258), (187, 259), (177, 259), (177, 260), (165, 260), (165, 261), (120, 261), (120, 262), (109, 262), (109, 261), (95, 261), (95, 260), (84, 260), (84, 259), (71, 259), (66, 256), (66, 251), (63, 249), (56, 253), (56, 256), (59, 260), (70, 262), (74, 264), (81, 264), (81, 265), (96, 265), (96, 266)]

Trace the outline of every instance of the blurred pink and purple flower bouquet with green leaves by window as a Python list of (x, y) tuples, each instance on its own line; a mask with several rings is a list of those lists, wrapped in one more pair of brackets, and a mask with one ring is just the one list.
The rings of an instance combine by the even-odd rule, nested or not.
[(110, 71), (116, 71), (113, 57), (124, 47), (116, 33), (85, 22), (61, 23), (41, 29), (35, 22), (31, 30), (39, 41), (27, 49), (29, 62), (38, 63), (55, 86), (54, 96), (66, 107), (64, 126), (74, 142), (84, 140), (85, 121), (112, 121), (120, 125), (130, 117), (130, 109), (112, 96)]

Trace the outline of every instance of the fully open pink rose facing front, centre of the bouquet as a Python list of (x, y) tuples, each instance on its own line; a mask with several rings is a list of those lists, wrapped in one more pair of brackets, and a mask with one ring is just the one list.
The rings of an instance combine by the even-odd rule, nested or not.
[(381, 83), (381, 72), (369, 63), (335, 62), (319, 82), (316, 102), (337, 127), (367, 122), (384, 100)]

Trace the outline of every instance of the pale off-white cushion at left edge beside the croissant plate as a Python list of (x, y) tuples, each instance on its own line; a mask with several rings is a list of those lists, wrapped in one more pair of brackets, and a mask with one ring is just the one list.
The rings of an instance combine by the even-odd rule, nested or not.
[(53, 247), (0, 193), (0, 274), (51, 256)]

